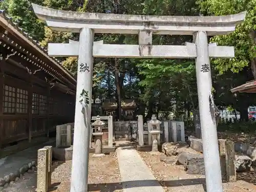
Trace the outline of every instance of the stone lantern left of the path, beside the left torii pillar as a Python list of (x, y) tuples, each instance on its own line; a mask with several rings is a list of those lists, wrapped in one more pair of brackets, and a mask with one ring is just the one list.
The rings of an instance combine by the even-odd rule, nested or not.
[(103, 157), (105, 154), (102, 153), (102, 127), (105, 125), (103, 121), (100, 120), (100, 116), (97, 116), (96, 121), (92, 123), (95, 132), (92, 135), (95, 137), (95, 153), (92, 157)]

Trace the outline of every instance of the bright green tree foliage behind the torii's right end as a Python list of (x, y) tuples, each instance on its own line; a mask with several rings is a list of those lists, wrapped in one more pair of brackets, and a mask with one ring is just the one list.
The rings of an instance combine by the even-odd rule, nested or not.
[[(210, 39), (211, 42), (217, 42), (220, 46), (234, 46), (235, 48), (234, 58), (212, 60), (220, 74), (228, 70), (238, 73), (250, 64), (256, 65), (253, 61), (256, 57), (256, 1), (199, 0), (197, 3), (200, 5), (201, 12), (209, 15), (228, 15), (247, 11), (245, 21), (238, 25), (234, 32)], [(251, 63), (252, 61), (254, 63)]]

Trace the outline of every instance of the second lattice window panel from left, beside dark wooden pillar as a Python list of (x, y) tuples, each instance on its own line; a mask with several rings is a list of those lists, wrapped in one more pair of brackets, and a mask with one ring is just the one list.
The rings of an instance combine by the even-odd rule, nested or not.
[(28, 113), (28, 91), (17, 89), (17, 113)]

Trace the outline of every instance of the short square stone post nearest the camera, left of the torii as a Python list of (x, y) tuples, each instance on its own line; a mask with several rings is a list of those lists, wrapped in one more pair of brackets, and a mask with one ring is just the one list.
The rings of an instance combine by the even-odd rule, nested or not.
[(49, 186), (49, 149), (40, 148), (37, 151), (37, 189), (38, 192), (48, 192)]

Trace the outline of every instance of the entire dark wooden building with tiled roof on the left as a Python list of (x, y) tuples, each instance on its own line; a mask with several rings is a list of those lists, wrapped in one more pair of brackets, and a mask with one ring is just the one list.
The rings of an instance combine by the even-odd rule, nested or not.
[(76, 79), (0, 11), (0, 148), (74, 121)]

